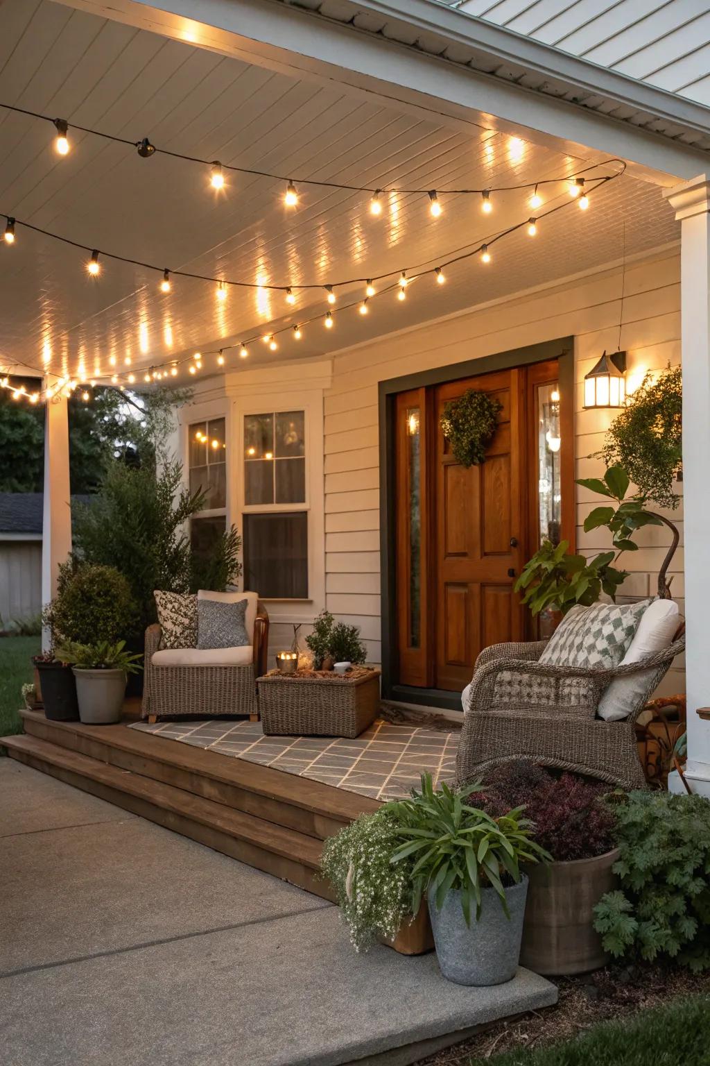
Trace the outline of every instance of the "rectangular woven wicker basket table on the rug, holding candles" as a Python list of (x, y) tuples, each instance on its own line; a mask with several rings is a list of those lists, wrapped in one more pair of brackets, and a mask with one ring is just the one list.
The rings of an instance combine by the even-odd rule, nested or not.
[(376, 669), (353, 680), (267, 674), (257, 687), (267, 736), (358, 737), (380, 710)]

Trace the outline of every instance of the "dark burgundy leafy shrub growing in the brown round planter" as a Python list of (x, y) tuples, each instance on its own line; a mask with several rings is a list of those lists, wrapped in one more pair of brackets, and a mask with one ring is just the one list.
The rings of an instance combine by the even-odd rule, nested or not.
[(614, 847), (614, 812), (605, 804), (608, 786), (576, 774), (555, 777), (528, 760), (492, 770), (475, 803), (498, 817), (524, 806), (535, 826), (535, 841), (558, 862), (593, 858)]

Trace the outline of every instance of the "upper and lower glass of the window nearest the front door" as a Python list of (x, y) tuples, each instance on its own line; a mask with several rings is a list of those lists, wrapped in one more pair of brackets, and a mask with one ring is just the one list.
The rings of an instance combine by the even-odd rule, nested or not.
[(244, 578), (264, 599), (308, 599), (306, 418), (244, 418)]

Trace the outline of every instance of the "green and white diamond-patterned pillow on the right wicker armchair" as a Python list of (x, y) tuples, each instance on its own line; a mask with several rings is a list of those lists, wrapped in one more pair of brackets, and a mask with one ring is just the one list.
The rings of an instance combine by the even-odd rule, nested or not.
[(573, 607), (540, 657), (549, 666), (618, 666), (649, 600)]

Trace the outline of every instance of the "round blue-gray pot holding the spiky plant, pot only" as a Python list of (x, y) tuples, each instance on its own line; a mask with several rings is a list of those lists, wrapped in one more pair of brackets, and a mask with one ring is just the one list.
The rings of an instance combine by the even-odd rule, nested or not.
[(470, 926), (461, 909), (461, 893), (449, 892), (442, 909), (429, 900), (436, 958), (447, 981), (457, 985), (501, 985), (515, 976), (521, 955), (528, 878), (506, 889), (510, 919), (493, 888), (481, 892), (481, 917)]

